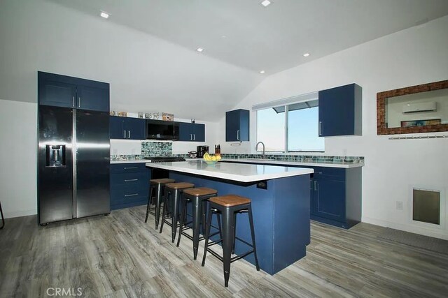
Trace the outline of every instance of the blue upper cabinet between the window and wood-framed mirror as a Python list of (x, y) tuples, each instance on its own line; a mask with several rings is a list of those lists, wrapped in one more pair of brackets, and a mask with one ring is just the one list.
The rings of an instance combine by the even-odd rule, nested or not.
[(362, 135), (362, 88), (357, 84), (319, 91), (319, 136)]

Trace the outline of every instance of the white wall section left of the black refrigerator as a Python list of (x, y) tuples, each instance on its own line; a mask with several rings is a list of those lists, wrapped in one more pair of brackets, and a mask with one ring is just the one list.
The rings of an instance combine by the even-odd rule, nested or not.
[(0, 201), (6, 218), (36, 214), (37, 106), (0, 100)]

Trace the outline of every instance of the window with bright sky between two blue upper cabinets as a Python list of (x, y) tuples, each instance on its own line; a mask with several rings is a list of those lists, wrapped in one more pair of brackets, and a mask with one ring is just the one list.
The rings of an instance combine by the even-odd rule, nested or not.
[(324, 139), (318, 136), (318, 99), (255, 109), (257, 142), (265, 143), (265, 151), (324, 151)]

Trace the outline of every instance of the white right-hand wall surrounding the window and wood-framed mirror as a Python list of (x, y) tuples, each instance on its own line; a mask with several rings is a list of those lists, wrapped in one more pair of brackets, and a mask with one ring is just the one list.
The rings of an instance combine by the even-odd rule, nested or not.
[[(388, 140), (377, 135), (376, 112), (379, 91), (448, 79), (447, 32), (448, 17), (442, 17), (290, 68), (267, 77), (235, 108), (251, 110), (255, 103), (356, 82), (363, 87), (363, 135), (326, 137), (325, 155), (365, 156), (362, 221), (448, 239), (447, 227), (425, 230), (409, 223), (409, 187), (448, 186), (448, 139)], [(224, 153), (254, 151), (254, 116), (251, 113), (251, 142), (238, 149), (226, 144)], [(222, 131), (223, 127), (221, 120)], [(404, 210), (395, 208), (396, 201), (403, 202)]]

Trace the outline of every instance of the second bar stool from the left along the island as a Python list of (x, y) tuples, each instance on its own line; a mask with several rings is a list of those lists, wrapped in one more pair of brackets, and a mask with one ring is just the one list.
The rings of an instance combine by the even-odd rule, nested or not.
[[(172, 234), (172, 243), (174, 243), (174, 239), (176, 239), (176, 230), (177, 230), (177, 221), (179, 216), (179, 202), (181, 198), (181, 193), (186, 188), (193, 188), (195, 184), (187, 183), (187, 182), (177, 182), (177, 183), (168, 183), (165, 184), (165, 198), (163, 200), (163, 211), (162, 211), (162, 223), (160, 224), (160, 233), (163, 230), (163, 223), (167, 223), (171, 225), (171, 234)], [(170, 202), (171, 209), (171, 218), (172, 222), (169, 223), (165, 217), (168, 214), (168, 202), (169, 198), (172, 199)]]

